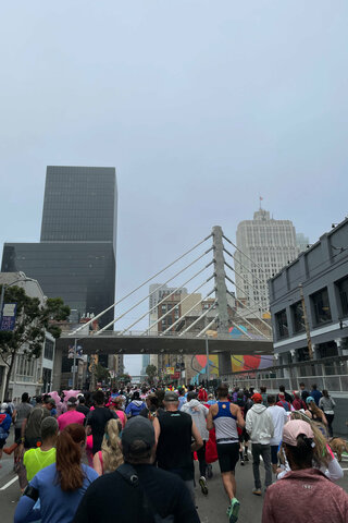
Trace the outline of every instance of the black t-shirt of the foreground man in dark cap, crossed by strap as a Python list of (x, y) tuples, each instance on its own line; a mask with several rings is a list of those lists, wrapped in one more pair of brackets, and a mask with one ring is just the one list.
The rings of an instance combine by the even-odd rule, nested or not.
[(134, 465), (139, 487), (134, 487), (117, 472), (96, 479), (83, 497), (73, 523), (153, 523), (142, 503), (142, 490), (154, 511), (175, 523), (199, 523), (190, 494), (175, 474), (153, 465)]

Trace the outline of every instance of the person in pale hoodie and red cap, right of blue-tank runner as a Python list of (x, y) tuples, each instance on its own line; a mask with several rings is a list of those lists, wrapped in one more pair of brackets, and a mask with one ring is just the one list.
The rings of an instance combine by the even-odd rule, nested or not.
[(261, 496), (260, 455), (262, 455), (265, 471), (265, 490), (272, 485), (270, 441), (274, 435), (274, 425), (268, 409), (262, 405), (262, 396), (257, 392), (251, 399), (253, 405), (247, 414), (246, 429), (250, 435), (252, 443), (252, 473), (254, 481), (252, 494)]

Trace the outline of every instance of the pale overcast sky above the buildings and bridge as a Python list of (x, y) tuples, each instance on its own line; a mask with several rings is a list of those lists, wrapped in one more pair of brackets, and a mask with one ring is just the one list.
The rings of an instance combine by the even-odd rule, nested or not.
[(347, 23), (345, 0), (2, 2), (0, 245), (39, 241), (48, 165), (116, 168), (117, 297), (260, 195), (314, 242), (348, 215)]

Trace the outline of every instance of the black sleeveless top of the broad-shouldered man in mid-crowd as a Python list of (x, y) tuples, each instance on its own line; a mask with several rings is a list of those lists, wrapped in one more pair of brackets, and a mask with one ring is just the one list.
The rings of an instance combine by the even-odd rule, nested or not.
[(182, 411), (163, 412), (159, 417), (161, 433), (157, 446), (158, 465), (186, 481), (194, 478), (191, 455), (192, 418)]

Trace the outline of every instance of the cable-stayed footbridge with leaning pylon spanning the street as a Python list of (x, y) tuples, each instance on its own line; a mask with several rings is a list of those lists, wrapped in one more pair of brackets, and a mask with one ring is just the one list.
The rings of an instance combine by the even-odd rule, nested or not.
[[(158, 278), (165, 278), (164, 283), (153, 285), (156, 289), (149, 294), (133, 301)], [(167, 284), (173, 287), (167, 288)], [(186, 285), (190, 285), (192, 291), (182, 292)], [(85, 353), (204, 354), (209, 337), (209, 352), (219, 354), (222, 370), (229, 366), (231, 372), (232, 354), (260, 356), (273, 353), (268, 299), (262, 294), (262, 285), (261, 267), (241, 253), (223, 234), (221, 227), (213, 227), (207, 238), (121, 300), (74, 331), (63, 333), (57, 341), (57, 349), (66, 350), (66, 339), (70, 343), (78, 339)], [(247, 289), (257, 289), (259, 301), (252, 297), (256, 293), (248, 293)], [(154, 294), (162, 297), (154, 303), (152, 300), (151, 305)], [(166, 307), (165, 304), (174, 297), (175, 306)], [(117, 314), (126, 301), (130, 305)], [(145, 304), (150, 304), (146, 311)], [(141, 306), (141, 313), (135, 315)], [(111, 309), (115, 312), (111, 323), (100, 330), (88, 331)], [(128, 317), (132, 320), (124, 324)], [(141, 329), (149, 318), (152, 318), (149, 327)], [(125, 327), (120, 328), (121, 323)]]

